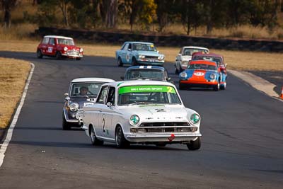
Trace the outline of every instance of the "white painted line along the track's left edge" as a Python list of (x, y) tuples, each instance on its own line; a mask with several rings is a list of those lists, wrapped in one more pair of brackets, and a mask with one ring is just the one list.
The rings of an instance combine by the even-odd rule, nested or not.
[(0, 167), (3, 164), (6, 149), (8, 147), (9, 142), (12, 139), (13, 129), (16, 127), (16, 123), (18, 121), (18, 116), (21, 113), (21, 109), (23, 107), (23, 103), (25, 102), (25, 96), (28, 93), (28, 86), (29, 86), (30, 80), (31, 80), (31, 78), (33, 76), (33, 71), (35, 69), (35, 64), (30, 62), (30, 65), (31, 65), (30, 74), (28, 75), (28, 80), (25, 82), (25, 88), (23, 89), (23, 95), (22, 95), (21, 101), (18, 104), (18, 108), (16, 110), (16, 113), (13, 115), (13, 120), (11, 122), (10, 127), (8, 128), (6, 139), (4, 140), (3, 144), (1, 144), (1, 146), (0, 146)]

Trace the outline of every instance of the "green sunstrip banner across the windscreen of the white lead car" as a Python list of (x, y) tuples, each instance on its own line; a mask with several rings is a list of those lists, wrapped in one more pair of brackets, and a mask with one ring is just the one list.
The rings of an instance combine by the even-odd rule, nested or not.
[(141, 92), (176, 93), (175, 88), (173, 88), (173, 86), (122, 86), (119, 88), (119, 94)]

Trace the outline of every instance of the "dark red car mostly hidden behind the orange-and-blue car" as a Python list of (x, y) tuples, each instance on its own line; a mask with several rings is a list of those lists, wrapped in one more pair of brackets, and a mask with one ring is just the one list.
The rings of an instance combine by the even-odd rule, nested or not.
[(216, 62), (218, 67), (220, 68), (223, 74), (226, 74), (226, 66), (227, 64), (224, 63), (224, 57), (222, 55), (216, 55), (214, 53), (202, 53), (202, 52), (195, 52), (192, 54), (192, 60), (208, 60), (212, 62)]

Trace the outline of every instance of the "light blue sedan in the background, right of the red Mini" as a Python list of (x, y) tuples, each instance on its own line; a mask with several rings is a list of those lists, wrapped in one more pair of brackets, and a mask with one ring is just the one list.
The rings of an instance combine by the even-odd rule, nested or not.
[(117, 65), (123, 64), (163, 66), (165, 56), (159, 54), (151, 42), (125, 42), (120, 50), (116, 51)]

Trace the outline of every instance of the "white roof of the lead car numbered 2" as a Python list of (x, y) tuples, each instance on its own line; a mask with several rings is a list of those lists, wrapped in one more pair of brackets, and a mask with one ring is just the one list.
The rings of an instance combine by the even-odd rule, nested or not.
[[(106, 85), (106, 84), (105, 84)], [(108, 83), (107, 85), (121, 87), (121, 86), (142, 86), (142, 85), (161, 85), (161, 86), (173, 86), (170, 82), (166, 81), (154, 81), (154, 80), (134, 80), (134, 81), (115, 81), (112, 83)]]

